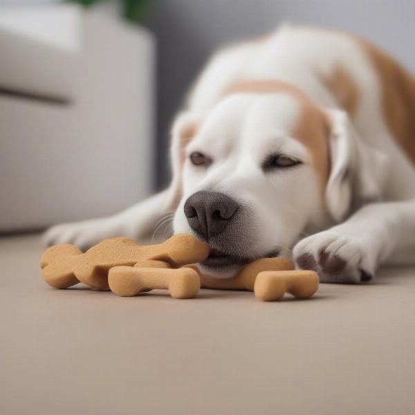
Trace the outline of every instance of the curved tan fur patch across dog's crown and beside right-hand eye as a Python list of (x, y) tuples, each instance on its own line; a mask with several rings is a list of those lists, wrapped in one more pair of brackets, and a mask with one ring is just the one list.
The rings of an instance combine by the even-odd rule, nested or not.
[(286, 93), (296, 98), (301, 106), (302, 113), (293, 131), (293, 137), (302, 142), (313, 159), (317, 177), (326, 187), (329, 178), (329, 120), (317, 105), (304, 92), (286, 82), (276, 80), (255, 80), (238, 82), (230, 86), (224, 95), (232, 93)]

